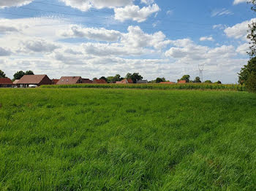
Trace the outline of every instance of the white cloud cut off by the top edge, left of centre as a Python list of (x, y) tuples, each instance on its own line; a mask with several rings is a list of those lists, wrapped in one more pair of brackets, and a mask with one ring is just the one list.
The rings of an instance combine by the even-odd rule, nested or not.
[(124, 7), (132, 4), (134, 0), (60, 0), (67, 6), (81, 11), (88, 11), (91, 8), (103, 9), (103, 8), (116, 8)]

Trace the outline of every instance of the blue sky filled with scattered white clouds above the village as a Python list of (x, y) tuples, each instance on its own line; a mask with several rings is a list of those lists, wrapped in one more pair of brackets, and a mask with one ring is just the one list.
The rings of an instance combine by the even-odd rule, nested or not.
[(1, 0), (0, 69), (50, 78), (184, 74), (236, 83), (249, 60), (246, 0)]

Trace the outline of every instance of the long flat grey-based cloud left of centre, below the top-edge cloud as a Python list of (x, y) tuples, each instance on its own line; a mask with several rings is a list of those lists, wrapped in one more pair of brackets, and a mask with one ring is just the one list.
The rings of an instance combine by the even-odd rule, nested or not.
[(107, 30), (105, 28), (83, 28), (81, 26), (69, 26), (68, 30), (62, 30), (59, 34), (68, 38), (78, 37), (108, 42), (118, 41), (121, 37), (119, 31)]

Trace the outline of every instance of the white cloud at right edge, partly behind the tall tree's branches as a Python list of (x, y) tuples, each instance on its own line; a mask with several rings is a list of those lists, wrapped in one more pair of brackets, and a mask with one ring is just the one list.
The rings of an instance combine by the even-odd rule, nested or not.
[(256, 21), (256, 18), (252, 18), (251, 20), (246, 20), (243, 23), (238, 23), (235, 26), (226, 28), (224, 32), (228, 37), (232, 37), (234, 39), (246, 40), (246, 36), (249, 30), (248, 25), (255, 21)]

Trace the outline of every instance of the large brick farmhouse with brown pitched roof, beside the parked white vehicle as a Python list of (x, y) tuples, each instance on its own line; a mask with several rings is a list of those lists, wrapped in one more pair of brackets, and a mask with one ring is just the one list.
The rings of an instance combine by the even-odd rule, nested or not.
[(29, 85), (52, 85), (53, 82), (50, 78), (45, 75), (24, 75), (20, 80), (16, 83), (20, 87), (29, 87)]

